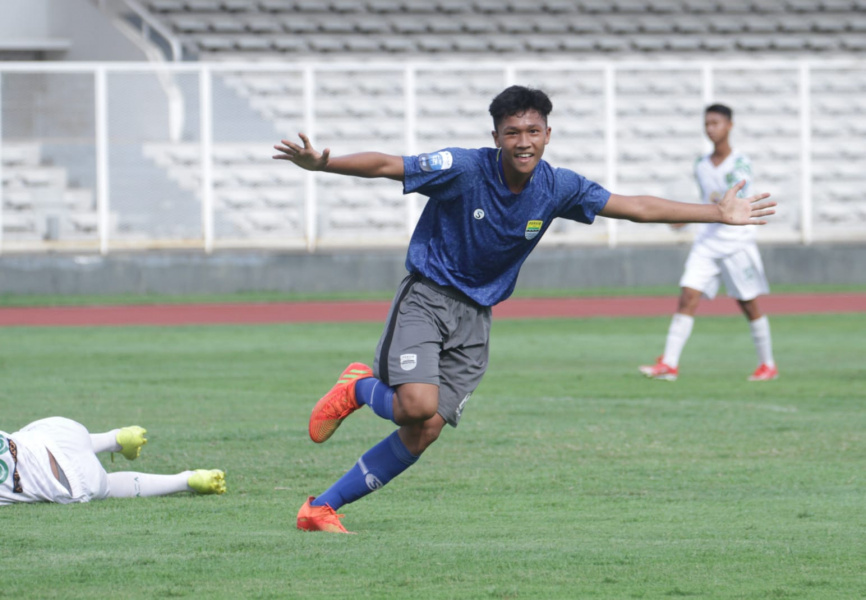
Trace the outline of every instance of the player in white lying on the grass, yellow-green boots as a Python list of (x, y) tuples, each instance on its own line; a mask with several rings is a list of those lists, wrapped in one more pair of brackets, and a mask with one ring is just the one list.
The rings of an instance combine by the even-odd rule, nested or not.
[(225, 473), (216, 469), (176, 475), (106, 473), (96, 454), (120, 452), (135, 460), (147, 443), (145, 433), (137, 426), (89, 433), (63, 417), (35, 421), (15, 433), (0, 431), (0, 505), (225, 493)]

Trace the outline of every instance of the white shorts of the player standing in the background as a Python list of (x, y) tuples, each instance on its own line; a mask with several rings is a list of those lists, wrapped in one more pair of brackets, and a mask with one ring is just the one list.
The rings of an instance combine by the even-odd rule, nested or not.
[(756, 243), (741, 243), (732, 249), (705, 244), (692, 246), (680, 287), (698, 290), (705, 298), (712, 300), (721, 282), (724, 282), (728, 296), (737, 300), (754, 300), (770, 293)]

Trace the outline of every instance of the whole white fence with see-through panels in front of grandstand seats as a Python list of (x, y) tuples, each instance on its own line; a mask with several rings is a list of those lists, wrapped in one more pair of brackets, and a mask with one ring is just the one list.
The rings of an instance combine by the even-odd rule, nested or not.
[[(545, 158), (618, 193), (697, 200), (703, 108), (780, 202), (762, 239), (866, 240), (862, 61), (0, 63), (0, 251), (404, 245), (424, 198), (273, 161), (299, 131), (334, 154), (491, 144), (505, 86), (550, 93)], [(684, 241), (558, 223), (546, 244)]]

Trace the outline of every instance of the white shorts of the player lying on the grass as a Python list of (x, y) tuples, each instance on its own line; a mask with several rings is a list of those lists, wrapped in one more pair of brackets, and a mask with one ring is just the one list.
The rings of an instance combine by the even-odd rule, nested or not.
[(47, 498), (49, 502), (67, 504), (108, 497), (108, 475), (93, 452), (90, 433), (84, 425), (64, 417), (49, 417), (30, 423), (21, 433), (42, 440), (69, 481), (71, 495), (61, 492)]

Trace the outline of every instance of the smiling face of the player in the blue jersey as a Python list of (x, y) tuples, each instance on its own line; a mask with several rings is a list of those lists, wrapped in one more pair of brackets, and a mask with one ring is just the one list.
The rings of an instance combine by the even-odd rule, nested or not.
[(512, 191), (523, 189), (550, 143), (550, 127), (536, 110), (509, 115), (493, 131), (493, 141), (502, 149), (502, 168)]

